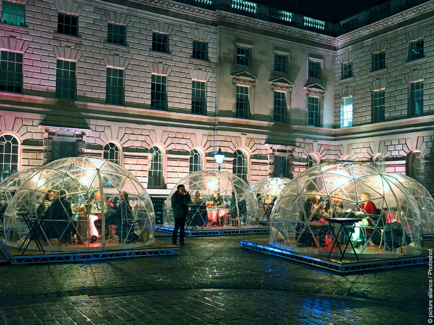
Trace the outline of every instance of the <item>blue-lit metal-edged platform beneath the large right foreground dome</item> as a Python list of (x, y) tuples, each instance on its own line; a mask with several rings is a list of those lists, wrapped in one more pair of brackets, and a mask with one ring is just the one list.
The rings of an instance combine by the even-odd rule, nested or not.
[(312, 257), (302, 253), (297, 253), (297, 252), (273, 247), (269, 244), (266, 245), (263, 244), (263, 242), (264, 240), (250, 240), (250, 241), (240, 240), (241, 247), (243, 248), (256, 250), (265, 254), (284, 257), (288, 260), (294, 260), (297, 262), (302, 262), (302, 263), (322, 267), (323, 269), (332, 270), (339, 273), (350, 273), (350, 272), (367, 271), (367, 270), (375, 270), (375, 269), (387, 269), (392, 267), (401, 267), (401, 266), (428, 263), (427, 251), (426, 253), (424, 252), (424, 254), (421, 256), (414, 256), (414, 257), (399, 257), (393, 259), (375, 259), (375, 260), (360, 259), (359, 262), (340, 263), (339, 260), (327, 260), (325, 259), (325, 257), (324, 258)]

